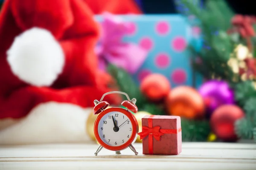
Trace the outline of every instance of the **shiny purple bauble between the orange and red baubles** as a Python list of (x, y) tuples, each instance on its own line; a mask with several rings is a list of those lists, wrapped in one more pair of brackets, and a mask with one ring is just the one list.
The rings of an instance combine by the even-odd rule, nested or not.
[(234, 104), (234, 92), (228, 83), (220, 80), (210, 80), (199, 88), (207, 108), (207, 117), (221, 105)]

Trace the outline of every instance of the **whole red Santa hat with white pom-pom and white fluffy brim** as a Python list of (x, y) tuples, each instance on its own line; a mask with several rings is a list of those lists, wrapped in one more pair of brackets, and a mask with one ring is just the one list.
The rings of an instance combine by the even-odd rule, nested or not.
[[(84, 0), (6, 0), (0, 13), (0, 144), (86, 142), (93, 100), (113, 89), (98, 69), (99, 32)], [(117, 104), (117, 96), (106, 96)], [(5, 124), (6, 125), (6, 124)]]

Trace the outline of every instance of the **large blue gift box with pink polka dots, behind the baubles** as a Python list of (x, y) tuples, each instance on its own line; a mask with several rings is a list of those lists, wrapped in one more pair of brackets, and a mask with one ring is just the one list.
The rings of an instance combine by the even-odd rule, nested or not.
[[(202, 84), (203, 77), (193, 70), (187, 49), (188, 45), (201, 49), (200, 28), (191, 26), (191, 20), (179, 14), (118, 17), (132, 24), (123, 41), (136, 43), (148, 51), (143, 65), (132, 75), (137, 84), (151, 73), (163, 74), (172, 87), (198, 88)], [(100, 22), (102, 17), (98, 15), (96, 20)]]

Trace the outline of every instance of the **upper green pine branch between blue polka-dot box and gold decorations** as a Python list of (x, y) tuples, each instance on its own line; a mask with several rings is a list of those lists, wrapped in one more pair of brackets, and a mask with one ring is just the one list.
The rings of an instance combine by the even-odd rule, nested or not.
[[(233, 11), (223, 0), (208, 0), (203, 9), (199, 8), (197, 1), (181, 0), (181, 3), (199, 20), (203, 35), (204, 48), (198, 52), (190, 47), (195, 70), (206, 79), (237, 80), (237, 75), (227, 63), (236, 47), (233, 37), (227, 34)], [(195, 57), (199, 57), (201, 62), (198, 63)]]

